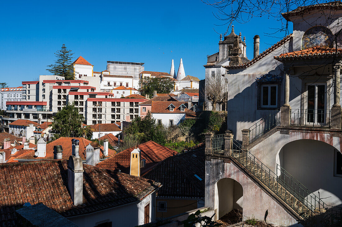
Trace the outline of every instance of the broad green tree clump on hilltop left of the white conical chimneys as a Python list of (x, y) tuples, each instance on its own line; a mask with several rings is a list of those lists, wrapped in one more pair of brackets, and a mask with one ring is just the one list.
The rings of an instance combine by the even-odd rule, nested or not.
[(141, 88), (139, 89), (140, 94), (143, 96), (149, 95), (151, 98), (153, 96), (153, 91), (169, 94), (174, 89), (174, 81), (169, 77), (145, 77), (140, 79), (139, 83), (141, 85)]

